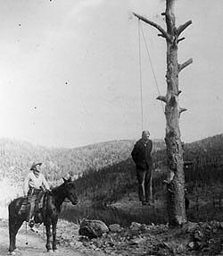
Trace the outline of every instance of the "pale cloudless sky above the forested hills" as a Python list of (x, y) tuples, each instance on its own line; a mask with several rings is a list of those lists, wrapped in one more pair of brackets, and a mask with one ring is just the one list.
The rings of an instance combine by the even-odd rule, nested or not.
[[(165, 28), (161, 0), (0, 0), (0, 138), (47, 147), (141, 137), (138, 21)], [(182, 141), (223, 132), (222, 0), (177, 0)], [(161, 95), (166, 42), (142, 23)], [(143, 129), (165, 137), (160, 94), (141, 35)]]

